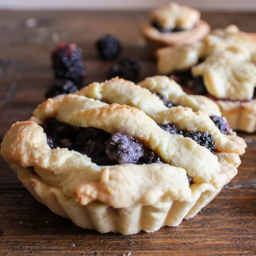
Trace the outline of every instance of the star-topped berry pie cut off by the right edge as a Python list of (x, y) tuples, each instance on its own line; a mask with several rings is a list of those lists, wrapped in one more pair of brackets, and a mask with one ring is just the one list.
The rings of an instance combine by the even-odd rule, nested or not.
[(256, 131), (256, 40), (235, 25), (202, 41), (157, 52), (158, 72), (216, 101), (231, 128)]

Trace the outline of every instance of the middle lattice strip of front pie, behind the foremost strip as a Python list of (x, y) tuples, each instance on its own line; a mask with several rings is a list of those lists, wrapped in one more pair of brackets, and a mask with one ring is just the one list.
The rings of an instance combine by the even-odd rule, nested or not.
[(208, 114), (203, 111), (193, 112), (181, 106), (167, 108), (162, 100), (146, 88), (123, 79), (112, 79), (103, 83), (92, 83), (77, 94), (94, 99), (117, 102), (140, 108), (158, 124), (174, 123), (178, 128), (189, 131), (209, 132), (220, 152), (243, 154), (245, 143), (237, 136), (223, 135)]

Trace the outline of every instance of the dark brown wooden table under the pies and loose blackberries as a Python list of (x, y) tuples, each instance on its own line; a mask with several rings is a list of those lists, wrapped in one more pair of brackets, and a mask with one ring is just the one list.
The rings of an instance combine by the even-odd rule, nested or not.
[[(117, 35), (122, 56), (142, 61), (141, 79), (156, 74), (138, 26), (146, 12), (0, 11), (0, 138), (27, 120), (53, 81), (50, 51), (58, 40), (83, 50), (86, 83), (104, 81), (112, 63), (97, 59), (94, 41)], [(34, 18), (36, 27), (26, 27)], [(256, 30), (255, 13), (202, 13), (213, 28)], [(238, 175), (201, 213), (178, 227), (137, 235), (100, 234), (76, 227), (37, 202), (0, 158), (0, 255), (253, 255), (256, 254), (256, 134), (247, 142)]]

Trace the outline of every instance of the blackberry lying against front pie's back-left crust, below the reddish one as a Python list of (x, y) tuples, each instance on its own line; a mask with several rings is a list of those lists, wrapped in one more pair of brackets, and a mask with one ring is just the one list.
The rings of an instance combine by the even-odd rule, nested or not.
[(53, 98), (54, 96), (59, 94), (74, 93), (77, 89), (77, 86), (75, 86), (72, 81), (56, 80), (54, 81), (54, 84), (50, 88), (48, 88), (45, 97)]

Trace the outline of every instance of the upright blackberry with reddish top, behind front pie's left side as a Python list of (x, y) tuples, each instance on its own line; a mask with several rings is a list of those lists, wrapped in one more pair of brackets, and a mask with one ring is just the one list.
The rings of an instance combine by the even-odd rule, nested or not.
[(52, 54), (52, 62), (56, 78), (71, 80), (80, 85), (87, 76), (82, 50), (74, 43), (60, 43)]

